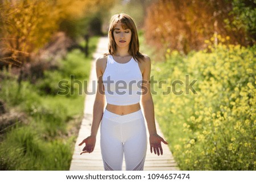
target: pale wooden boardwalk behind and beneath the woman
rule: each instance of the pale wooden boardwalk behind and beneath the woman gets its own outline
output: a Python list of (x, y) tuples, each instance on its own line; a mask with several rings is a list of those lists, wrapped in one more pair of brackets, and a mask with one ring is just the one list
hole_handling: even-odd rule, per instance
[[(96, 53), (94, 53), (94, 61), (92, 61), (92, 69), (90, 73), (90, 81), (88, 84), (88, 91), (92, 92), (93, 89), (96, 90), (96, 86), (93, 86), (93, 82), (97, 81), (96, 71), (95, 71), (95, 60), (97, 57), (101, 56), (102, 53), (107, 52), (108, 50), (108, 37), (101, 37)], [(93, 88), (94, 87), (94, 88)], [(90, 126), (92, 125), (92, 113), (93, 113), (93, 103), (95, 99), (95, 94), (86, 95), (85, 99), (85, 108), (84, 108), (84, 118), (81, 123), (79, 136), (77, 137), (75, 151), (73, 153), (72, 162), (71, 162), (71, 171), (102, 171), (104, 170), (103, 162), (101, 158), (100, 150), (100, 129), (97, 134), (96, 147), (93, 153), (82, 154), (80, 152), (84, 146), (78, 146), (79, 143), (86, 137), (90, 135)], [(142, 108), (143, 109), (143, 108)], [(160, 136), (163, 136), (158, 122), (156, 121), (156, 129)], [(148, 133), (147, 133), (148, 135)], [(170, 170), (179, 170), (174, 161), (174, 158), (171, 154), (167, 145), (162, 144), (163, 146), (163, 155), (158, 156), (154, 153), (150, 153), (149, 141), (148, 141), (148, 150), (146, 155), (146, 161), (144, 164), (145, 171), (170, 171)], [(123, 161), (123, 170), (125, 170), (125, 162)]]

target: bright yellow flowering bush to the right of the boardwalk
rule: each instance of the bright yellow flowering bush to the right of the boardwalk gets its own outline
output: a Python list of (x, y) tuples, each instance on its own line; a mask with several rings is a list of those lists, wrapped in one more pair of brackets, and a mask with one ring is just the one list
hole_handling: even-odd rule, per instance
[(185, 83), (185, 75), (196, 80), (195, 93), (154, 95), (156, 116), (181, 170), (256, 170), (256, 46), (213, 41), (186, 57), (167, 50), (166, 62), (154, 65), (152, 75), (167, 78), (155, 90)]

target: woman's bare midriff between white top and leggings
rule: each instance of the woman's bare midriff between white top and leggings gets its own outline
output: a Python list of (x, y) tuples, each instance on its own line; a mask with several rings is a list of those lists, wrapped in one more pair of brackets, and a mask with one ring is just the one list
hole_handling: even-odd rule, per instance
[(113, 105), (107, 104), (106, 109), (110, 112), (113, 112), (117, 115), (128, 115), (129, 113), (139, 111), (141, 105), (139, 103), (132, 105)]

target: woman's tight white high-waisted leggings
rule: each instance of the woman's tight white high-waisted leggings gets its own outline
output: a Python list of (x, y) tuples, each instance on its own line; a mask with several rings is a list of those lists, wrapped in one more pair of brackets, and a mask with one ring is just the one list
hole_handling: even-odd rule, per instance
[(117, 115), (105, 109), (101, 120), (101, 155), (106, 171), (143, 171), (147, 134), (141, 109)]

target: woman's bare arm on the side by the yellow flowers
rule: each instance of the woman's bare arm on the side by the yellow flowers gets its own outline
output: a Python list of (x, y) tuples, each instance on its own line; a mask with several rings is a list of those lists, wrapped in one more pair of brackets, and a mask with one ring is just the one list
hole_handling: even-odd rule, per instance
[(152, 150), (154, 149), (155, 154), (163, 155), (161, 142), (164, 144), (168, 143), (156, 132), (154, 103), (150, 91), (151, 60), (149, 57), (145, 57), (143, 65), (142, 106), (144, 109), (144, 116), (147, 121), (148, 133), (150, 134), (150, 151), (152, 153)]

